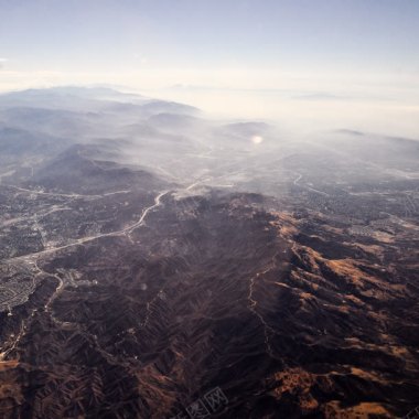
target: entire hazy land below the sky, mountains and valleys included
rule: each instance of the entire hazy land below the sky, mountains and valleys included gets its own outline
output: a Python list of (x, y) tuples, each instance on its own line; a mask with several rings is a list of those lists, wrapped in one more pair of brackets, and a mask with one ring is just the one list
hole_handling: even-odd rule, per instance
[(419, 405), (418, 142), (58, 93), (0, 99), (2, 418)]

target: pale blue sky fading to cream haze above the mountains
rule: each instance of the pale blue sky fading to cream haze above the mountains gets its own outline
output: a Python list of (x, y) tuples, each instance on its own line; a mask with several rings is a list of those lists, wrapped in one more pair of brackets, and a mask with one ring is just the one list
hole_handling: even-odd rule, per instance
[(109, 84), (355, 125), (368, 110), (419, 137), (418, 22), (418, 0), (0, 0), (0, 92)]

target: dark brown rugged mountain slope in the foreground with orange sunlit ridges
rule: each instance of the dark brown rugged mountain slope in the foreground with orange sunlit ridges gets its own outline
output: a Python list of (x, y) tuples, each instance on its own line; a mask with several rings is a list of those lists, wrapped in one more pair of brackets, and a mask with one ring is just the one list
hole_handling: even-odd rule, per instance
[(2, 313), (1, 417), (170, 418), (217, 387), (215, 418), (406, 415), (411, 232), (358, 238), (324, 217), (168, 194), (131, 234), (21, 261), (37, 286)]

